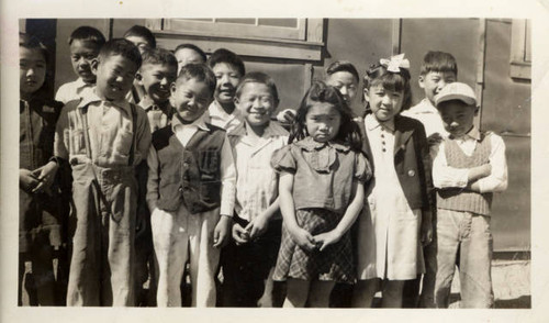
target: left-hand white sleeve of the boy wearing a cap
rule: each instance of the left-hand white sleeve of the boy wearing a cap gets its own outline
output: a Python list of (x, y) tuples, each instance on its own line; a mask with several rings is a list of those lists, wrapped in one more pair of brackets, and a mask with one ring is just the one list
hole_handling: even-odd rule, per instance
[(436, 188), (464, 188), (468, 182), (469, 169), (448, 166), (445, 153), (445, 143), (440, 143), (438, 151), (434, 149), (433, 185)]

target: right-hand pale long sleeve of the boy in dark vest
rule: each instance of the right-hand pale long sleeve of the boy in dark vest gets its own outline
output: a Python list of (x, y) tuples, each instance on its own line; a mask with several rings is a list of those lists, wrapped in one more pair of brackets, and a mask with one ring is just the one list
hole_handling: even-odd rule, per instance
[(221, 207), (222, 215), (233, 216), (236, 197), (236, 167), (228, 137), (221, 148)]

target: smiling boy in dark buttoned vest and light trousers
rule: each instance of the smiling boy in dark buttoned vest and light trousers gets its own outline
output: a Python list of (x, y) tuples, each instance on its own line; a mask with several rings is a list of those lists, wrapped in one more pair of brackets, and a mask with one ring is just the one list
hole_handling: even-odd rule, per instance
[(181, 307), (189, 259), (192, 305), (213, 307), (220, 248), (229, 240), (236, 170), (225, 131), (205, 122), (215, 75), (202, 64), (181, 68), (171, 85), (175, 114), (153, 134), (147, 203), (158, 259), (158, 307)]

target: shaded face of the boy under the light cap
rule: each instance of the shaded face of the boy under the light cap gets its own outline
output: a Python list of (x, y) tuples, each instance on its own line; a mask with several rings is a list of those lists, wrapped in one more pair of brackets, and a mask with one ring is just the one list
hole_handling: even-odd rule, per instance
[(453, 137), (461, 137), (473, 127), (477, 108), (459, 100), (446, 101), (438, 104), (445, 130)]

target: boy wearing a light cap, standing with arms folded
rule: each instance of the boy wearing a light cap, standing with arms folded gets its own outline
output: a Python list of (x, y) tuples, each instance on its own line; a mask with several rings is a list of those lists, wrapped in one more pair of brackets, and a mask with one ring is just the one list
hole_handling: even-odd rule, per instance
[(492, 308), (490, 209), (493, 192), (507, 188), (505, 144), (498, 135), (474, 126), (479, 110), (468, 85), (447, 85), (435, 103), (449, 136), (433, 152), (437, 235), (426, 260), (435, 263), (437, 271), (434, 279), (426, 277), (434, 286), (424, 286), (422, 303), (448, 308), (457, 264), (461, 308)]

